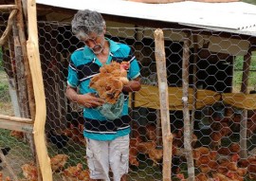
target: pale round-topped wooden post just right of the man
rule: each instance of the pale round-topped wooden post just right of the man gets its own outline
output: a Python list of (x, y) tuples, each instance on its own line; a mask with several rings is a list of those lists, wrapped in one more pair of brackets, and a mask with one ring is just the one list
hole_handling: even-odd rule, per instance
[(164, 37), (161, 29), (155, 33), (155, 61), (160, 99), (161, 126), (163, 138), (163, 181), (171, 181), (173, 135), (170, 128), (168, 84), (166, 76), (166, 59)]

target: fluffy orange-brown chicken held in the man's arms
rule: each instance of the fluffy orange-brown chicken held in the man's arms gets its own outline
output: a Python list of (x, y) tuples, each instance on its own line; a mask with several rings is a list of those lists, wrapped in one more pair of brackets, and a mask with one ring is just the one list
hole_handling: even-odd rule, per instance
[(98, 92), (101, 99), (114, 104), (119, 99), (123, 86), (129, 82), (129, 66), (127, 62), (105, 64), (100, 68), (100, 73), (91, 79), (89, 86)]

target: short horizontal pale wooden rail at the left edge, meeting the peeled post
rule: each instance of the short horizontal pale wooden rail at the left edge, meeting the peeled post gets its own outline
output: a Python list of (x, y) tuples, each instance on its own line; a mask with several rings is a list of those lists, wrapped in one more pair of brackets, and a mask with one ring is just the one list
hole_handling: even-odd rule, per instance
[(14, 122), (0, 118), (0, 128), (7, 130), (15, 130), (25, 132), (27, 134), (33, 133), (33, 124), (27, 122)]

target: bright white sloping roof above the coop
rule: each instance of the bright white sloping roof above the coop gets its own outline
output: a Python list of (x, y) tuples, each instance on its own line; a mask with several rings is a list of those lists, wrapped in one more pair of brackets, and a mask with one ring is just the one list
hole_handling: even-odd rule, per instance
[(256, 36), (256, 6), (243, 2), (145, 4), (126, 0), (37, 0), (37, 3)]

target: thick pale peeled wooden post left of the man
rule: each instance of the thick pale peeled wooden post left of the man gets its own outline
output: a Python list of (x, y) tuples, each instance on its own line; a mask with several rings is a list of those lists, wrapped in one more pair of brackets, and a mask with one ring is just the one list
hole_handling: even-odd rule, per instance
[(42, 69), (39, 56), (37, 14), (35, 0), (27, 0), (27, 22), (28, 22), (28, 40), (27, 55), (32, 76), (33, 90), (35, 96), (36, 115), (34, 123), (34, 141), (36, 153), (40, 163), (44, 181), (52, 181), (52, 171), (50, 159), (46, 148), (46, 96)]

